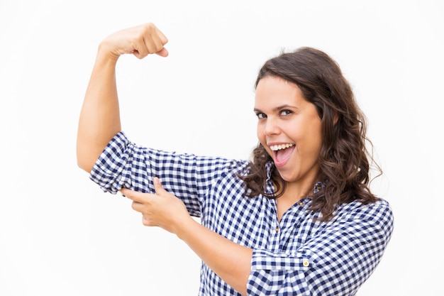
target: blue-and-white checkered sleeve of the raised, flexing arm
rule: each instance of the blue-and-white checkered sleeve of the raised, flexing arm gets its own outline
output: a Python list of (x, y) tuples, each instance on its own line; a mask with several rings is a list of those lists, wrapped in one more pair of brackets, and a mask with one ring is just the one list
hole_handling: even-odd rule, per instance
[(237, 160), (137, 146), (121, 131), (104, 148), (89, 177), (111, 194), (123, 187), (153, 193), (152, 177), (159, 177), (190, 214), (200, 216), (201, 203), (218, 178), (241, 165)]

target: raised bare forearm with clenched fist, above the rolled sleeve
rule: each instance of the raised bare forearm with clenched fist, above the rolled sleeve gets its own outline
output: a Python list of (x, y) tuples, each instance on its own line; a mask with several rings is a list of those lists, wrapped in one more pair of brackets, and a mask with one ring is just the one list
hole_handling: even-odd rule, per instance
[(123, 54), (139, 59), (156, 53), (168, 55), (165, 35), (152, 23), (109, 35), (99, 45), (77, 130), (77, 164), (90, 172), (101, 151), (121, 131), (116, 87), (116, 63)]

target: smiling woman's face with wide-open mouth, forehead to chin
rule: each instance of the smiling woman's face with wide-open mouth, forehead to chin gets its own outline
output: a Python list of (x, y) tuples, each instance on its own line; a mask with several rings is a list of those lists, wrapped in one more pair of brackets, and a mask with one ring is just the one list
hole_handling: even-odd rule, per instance
[(257, 138), (287, 182), (313, 183), (318, 176), (321, 119), (296, 84), (264, 77), (256, 87)]

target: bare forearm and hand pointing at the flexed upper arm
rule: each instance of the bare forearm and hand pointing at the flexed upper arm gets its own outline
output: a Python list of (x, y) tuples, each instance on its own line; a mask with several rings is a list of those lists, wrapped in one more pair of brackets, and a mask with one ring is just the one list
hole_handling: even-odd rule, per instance
[(123, 188), (121, 193), (133, 200), (133, 209), (143, 216), (143, 225), (159, 226), (176, 234), (206, 265), (233, 289), (247, 294), (252, 249), (233, 243), (202, 226), (187, 212), (184, 203), (165, 191), (160, 180), (153, 179), (156, 194)]

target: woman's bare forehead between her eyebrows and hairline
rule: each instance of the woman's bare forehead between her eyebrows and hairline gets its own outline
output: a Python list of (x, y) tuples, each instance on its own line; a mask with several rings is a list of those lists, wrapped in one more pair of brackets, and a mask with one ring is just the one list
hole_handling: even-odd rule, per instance
[(262, 78), (256, 87), (255, 108), (274, 108), (283, 104), (300, 106), (309, 103), (304, 99), (301, 89), (280, 77), (267, 76)]

